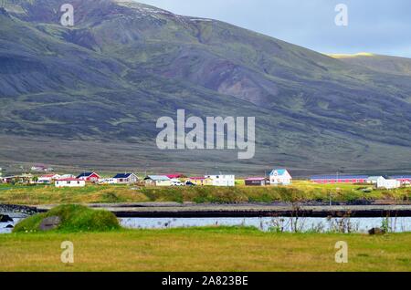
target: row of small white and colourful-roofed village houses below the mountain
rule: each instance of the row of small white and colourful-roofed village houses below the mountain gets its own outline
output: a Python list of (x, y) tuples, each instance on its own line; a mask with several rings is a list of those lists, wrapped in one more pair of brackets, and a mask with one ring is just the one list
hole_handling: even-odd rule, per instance
[[(19, 175), (2, 176), (0, 168), (0, 183), (7, 184), (43, 184), (57, 188), (85, 187), (88, 184), (109, 185), (125, 184), (147, 187), (178, 187), (178, 186), (216, 186), (235, 187), (238, 184), (245, 186), (289, 186), (293, 182), (290, 171), (287, 169), (273, 169), (265, 177), (248, 177), (236, 179), (235, 174), (215, 172), (204, 176), (189, 176), (182, 173), (147, 174), (139, 177), (133, 172), (117, 173), (112, 177), (104, 177), (95, 171), (83, 171), (77, 175), (66, 173), (58, 174), (53, 168), (44, 165), (35, 165), (31, 172)], [(301, 179), (302, 180), (302, 179)], [(368, 176), (368, 175), (315, 175), (310, 182), (315, 184), (367, 184), (375, 189), (394, 190), (411, 186), (411, 175), (395, 176)]]

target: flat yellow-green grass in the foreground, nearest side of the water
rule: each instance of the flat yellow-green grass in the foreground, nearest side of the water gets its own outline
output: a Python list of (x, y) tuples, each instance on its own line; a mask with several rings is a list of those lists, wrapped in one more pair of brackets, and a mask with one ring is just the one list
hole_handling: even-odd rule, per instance
[[(74, 264), (60, 243), (74, 243)], [(349, 263), (334, 245), (349, 245)], [(411, 233), (261, 233), (250, 228), (0, 235), (0, 271), (411, 271)]]

